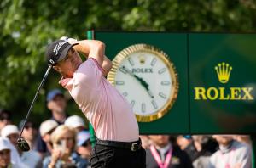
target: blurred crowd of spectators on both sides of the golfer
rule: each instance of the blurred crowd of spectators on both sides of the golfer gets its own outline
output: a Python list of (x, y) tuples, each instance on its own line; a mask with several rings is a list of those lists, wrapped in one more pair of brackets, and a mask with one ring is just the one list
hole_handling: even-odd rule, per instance
[[(1, 167), (90, 167), (90, 132), (79, 115), (68, 116), (67, 101), (61, 90), (47, 94), (48, 120), (37, 127), (25, 124), (22, 137), (31, 148), (17, 148), (17, 138), (24, 125), (12, 121), (12, 113), (0, 111)], [(141, 135), (146, 149), (147, 168), (251, 168), (252, 142), (248, 135)]]

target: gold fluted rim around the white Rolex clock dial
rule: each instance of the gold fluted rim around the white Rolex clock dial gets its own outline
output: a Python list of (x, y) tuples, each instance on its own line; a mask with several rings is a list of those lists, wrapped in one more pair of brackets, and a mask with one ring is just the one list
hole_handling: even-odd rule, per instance
[(148, 52), (148, 53), (154, 53), (157, 57), (159, 57), (167, 66), (171, 78), (172, 78), (172, 89), (171, 89), (171, 96), (168, 98), (166, 104), (161, 107), (157, 112), (155, 112), (152, 115), (136, 115), (137, 121), (139, 122), (151, 122), (154, 120), (158, 120), (172, 108), (173, 104), (175, 103), (177, 99), (177, 93), (179, 88), (179, 82), (177, 77), (177, 71), (172, 63), (171, 59), (168, 58), (168, 55), (164, 53), (160, 48), (155, 48), (152, 45), (148, 44), (134, 44), (127, 48), (124, 48), (122, 51), (120, 51), (115, 58), (113, 59), (113, 67), (108, 73), (108, 81), (115, 86), (115, 75), (117, 70), (119, 69), (119, 64), (128, 57), (131, 53), (135, 52)]

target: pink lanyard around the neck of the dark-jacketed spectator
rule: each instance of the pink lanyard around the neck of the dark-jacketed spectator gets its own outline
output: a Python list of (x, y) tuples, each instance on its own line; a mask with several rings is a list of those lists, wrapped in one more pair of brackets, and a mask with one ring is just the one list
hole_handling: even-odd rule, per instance
[(160, 159), (160, 155), (157, 153), (153, 145), (150, 146), (150, 151), (153, 154), (154, 160), (157, 162), (160, 168), (167, 168), (170, 161), (172, 160), (172, 148), (169, 149), (168, 154), (164, 162)]

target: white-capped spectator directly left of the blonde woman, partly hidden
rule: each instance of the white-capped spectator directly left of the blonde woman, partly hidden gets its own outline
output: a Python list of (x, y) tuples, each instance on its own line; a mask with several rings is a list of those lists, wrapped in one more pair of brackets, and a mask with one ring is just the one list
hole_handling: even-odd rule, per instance
[(44, 143), (46, 144), (47, 151), (45, 154), (41, 154), (41, 157), (44, 158), (46, 155), (50, 155), (52, 151), (52, 143), (50, 141), (51, 133), (55, 131), (55, 128), (58, 126), (58, 123), (55, 120), (45, 120), (41, 123), (39, 132), (43, 138)]

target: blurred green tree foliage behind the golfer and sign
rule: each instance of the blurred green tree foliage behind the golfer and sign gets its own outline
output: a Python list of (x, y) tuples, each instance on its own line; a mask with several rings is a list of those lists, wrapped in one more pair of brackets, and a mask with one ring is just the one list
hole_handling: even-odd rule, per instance
[[(0, 107), (26, 115), (47, 64), (44, 50), (61, 36), (96, 31), (255, 31), (253, 0), (28, 1), (0, 3)], [(32, 117), (49, 116), (45, 94), (59, 87), (54, 72), (38, 96)], [(70, 113), (79, 109), (70, 101)]]

